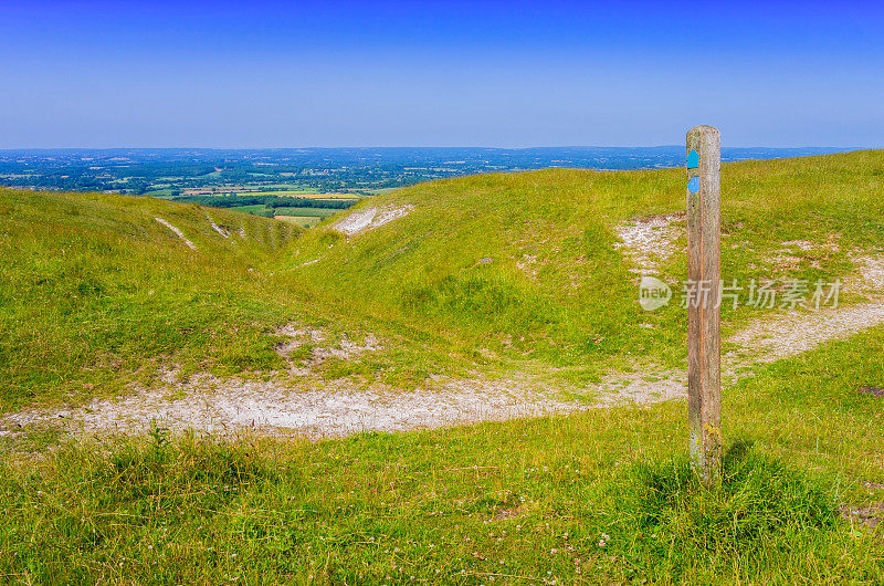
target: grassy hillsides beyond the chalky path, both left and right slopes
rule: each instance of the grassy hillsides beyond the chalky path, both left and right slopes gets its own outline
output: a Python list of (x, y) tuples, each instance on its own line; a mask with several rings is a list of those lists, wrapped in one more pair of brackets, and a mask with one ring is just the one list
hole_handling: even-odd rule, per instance
[[(884, 241), (882, 174), (884, 151), (725, 165), (725, 279), (853, 272), (851, 253)], [(149, 383), (162, 364), (280, 368), (272, 334), (293, 320), (388, 342), (327, 360), (325, 376), (403, 386), (482, 365), (581, 383), (684, 359), (677, 289), (669, 307), (644, 312), (632, 261), (615, 249), (623, 222), (683, 209), (682, 170), (467, 177), (383, 193), (343, 216), (370, 207), (413, 210), (356, 236), (336, 229), (339, 216), (296, 237), (281, 221), (147, 198), (0, 191), (3, 407)], [(676, 286), (683, 222), (660, 268)], [(794, 241), (802, 247), (781, 262), (777, 251)], [(753, 312), (726, 307), (725, 331)]]

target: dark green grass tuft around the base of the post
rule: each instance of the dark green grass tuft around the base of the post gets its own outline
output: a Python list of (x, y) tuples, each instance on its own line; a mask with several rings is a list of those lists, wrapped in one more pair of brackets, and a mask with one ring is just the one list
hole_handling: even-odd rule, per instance
[(612, 543), (640, 574), (665, 580), (686, 579), (697, 566), (754, 566), (813, 550), (840, 524), (831, 482), (743, 441), (728, 450), (713, 490), (678, 456), (634, 464), (617, 491), (620, 510), (608, 513)]

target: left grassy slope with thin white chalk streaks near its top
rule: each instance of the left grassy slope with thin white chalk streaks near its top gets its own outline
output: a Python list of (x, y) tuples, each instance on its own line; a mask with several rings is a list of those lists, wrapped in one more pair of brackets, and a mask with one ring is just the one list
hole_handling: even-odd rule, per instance
[(265, 332), (291, 307), (269, 303), (260, 269), (297, 229), (149, 198), (15, 190), (0, 190), (0, 407), (113, 390), (170, 359), (278, 360)]

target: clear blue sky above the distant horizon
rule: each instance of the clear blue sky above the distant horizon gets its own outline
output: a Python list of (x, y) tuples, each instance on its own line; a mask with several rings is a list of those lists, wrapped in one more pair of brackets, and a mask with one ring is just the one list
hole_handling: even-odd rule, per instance
[(884, 146), (884, 2), (0, 0), (0, 148)]

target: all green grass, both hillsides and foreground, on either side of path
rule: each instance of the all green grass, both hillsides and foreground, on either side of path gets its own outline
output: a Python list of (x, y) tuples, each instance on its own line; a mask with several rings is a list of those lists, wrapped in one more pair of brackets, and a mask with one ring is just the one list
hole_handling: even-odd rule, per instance
[[(849, 274), (851, 250), (881, 251), (882, 177), (884, 151), (726, 165), (725, 278)], [(612, 244), (618, 223), (683, 197), (676, 170), (487, 175), (376, 196), (360, 206), (414, 210), (345, 238), (150, 198), (0, 190), (0, 409), (114, 396), (169, 365), (264, 376), (285, 367), (273, 332), (291, 321), (375, 332), (383, 352), (324, 374), (399, 387), (681, 364), (684, 311), (642, 312)], [(814, 247), (764, 261), (790, 240)], [(685, 272), (683, 254), (663, 266)], [(725, 329), (754, 316), (725, 312)], [(883, 327), (725, 389), (732, 450), (712, 492), (685, 465), (683, 402), (315, 443), (29, 426), (0, 438), (0, 577), (881, 583), (880, 531), (836, 513), (884, 502), (881, 402), (859, 386), (884, 386)]]

